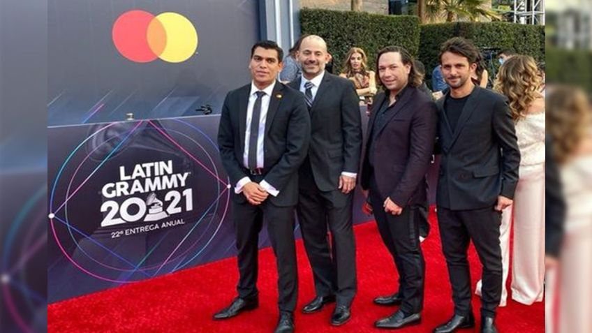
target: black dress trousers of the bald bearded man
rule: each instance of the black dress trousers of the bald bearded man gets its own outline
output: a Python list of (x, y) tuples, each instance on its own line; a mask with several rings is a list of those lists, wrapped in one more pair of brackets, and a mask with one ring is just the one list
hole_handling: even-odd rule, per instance
[[(357, 290), (355, 239), (352, 226), (353, 191), (320, 191), (307, 159), (299, 173), (298, 222), (318, 296), (336, 295), (338, 305), (350, 306)], [(327, 236), (331, 232), (331, 244)]]

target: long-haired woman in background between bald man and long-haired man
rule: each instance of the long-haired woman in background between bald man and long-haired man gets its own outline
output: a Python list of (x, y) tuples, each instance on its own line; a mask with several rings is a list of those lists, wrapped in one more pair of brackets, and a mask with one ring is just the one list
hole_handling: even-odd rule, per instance
[(376, 74), (368, 69), (367, 61), (364, 50), (360, 47), (350, 48), (339, 76), (351, 80), (357, 96), (364, 98), (364, 103), (372, 104), (372, 97), (376, 94)]

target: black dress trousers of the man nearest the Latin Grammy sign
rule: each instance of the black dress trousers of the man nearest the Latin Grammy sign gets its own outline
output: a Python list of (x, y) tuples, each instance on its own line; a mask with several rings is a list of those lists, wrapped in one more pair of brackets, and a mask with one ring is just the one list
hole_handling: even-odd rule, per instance
[(258, 241), (262, 223), (266, 223), (276, 256), (279, 310), (293, 312), (298, 295), (294, 240), (295, 207), (277, 207), (269, 199), (258, 206), (250, 205), (249, 202), (233, 202), (232, 207), (240, 274), (237, 286), (239, 297), (252, 299), (258, 296)]

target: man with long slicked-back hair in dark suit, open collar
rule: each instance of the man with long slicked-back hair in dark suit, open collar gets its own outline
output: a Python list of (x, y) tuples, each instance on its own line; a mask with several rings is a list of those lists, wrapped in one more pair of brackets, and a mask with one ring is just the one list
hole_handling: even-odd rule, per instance
[(419, 232), (436, 138), (436, 105), (419, 89), (421, 75), (404, 48), (383, 48), (376, 64), (385, 92), (374, 98), (368, 122), (362, 188), (369, 190), (380, 237), (399, 272), (399, 293), (374, 302), (401, 307), (374, 325), (397, 329), (420, 323), (423, 309), (425, 262)]

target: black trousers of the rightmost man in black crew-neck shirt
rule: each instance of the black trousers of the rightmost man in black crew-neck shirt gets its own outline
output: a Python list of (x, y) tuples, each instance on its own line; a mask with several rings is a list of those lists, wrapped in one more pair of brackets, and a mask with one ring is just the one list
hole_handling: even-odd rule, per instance
[(438, 225), (452, 284), (454, 313), (467, 316), (472, 311), (467, 250), (469, 241), (473, 240), (483, 267), (481, 315), (495, 317), (502, 283), (501, 212), (496, 212), (494, 207), (473, 210), (438, 207)]

